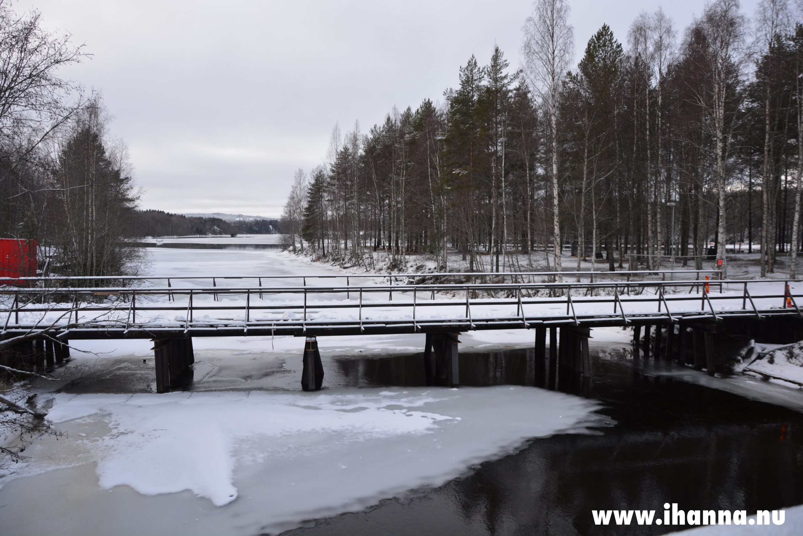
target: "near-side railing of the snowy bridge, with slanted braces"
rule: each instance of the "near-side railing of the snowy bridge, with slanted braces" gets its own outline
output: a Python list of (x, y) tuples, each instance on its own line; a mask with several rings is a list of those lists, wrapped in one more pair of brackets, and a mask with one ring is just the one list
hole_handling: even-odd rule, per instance
[[(25, 330), (201, 335), (417, 333), (422, 330), (629, 325), (801, 315), (801, 280), (630, 281), (615, 283), (396, 284), (205, 288), (0, 288), (0, 335)], [(803, 286), (803, 285), (796, 285)], [(711, 287), (719, 293), (711, 293)], [(728, 288), (723, 292), (723, 287)], [(736, 288), (736, 290), (732, 290)], [(751, 292), (752, 288), (752, 292)], [(475, 297), (494, 290), (502, 298)], [(387, 299), (384, 293), (388, 293)], [(405, 299), (393, 301), (393, 293)], [(602, 296), (594, 294), (601, 293)], [(370, 299), (379, 296), (380, 299)], [(313, 301), (315, 297), (324, 300)], [(796, 299), (797, 298), (797, 299)], [(178, 303), (184, 301), (186, 303)], [(717, 304), (717, 306), (715, 306)], [(504, 310), (511, 306), (511, 309)], [(515, 313), (512, 313), (515, 306)], [(489, 315), (482, 308), (494, 308)], [(371, 313), (388, 309), (380, 316)], [(422, 311), (430, 311), (422, 317)], [(559, 308), (559, 309), (557, 309)], [(629, 310), (626, 310), (629, 309)], [(501, 310), (500, 310), (501, 309)], [(526, 310), (529, 309), (529, 310)], [(565, 312), (564, 312), (565, 309)], [(340, 317), (322, 312), (340, 311)], [(201, 317), (217, 312), (216, 317)], [(259, 318), (259, 313), (285, 313)], [(171, 314), (183, 318), (168, 320)], [(234, 315), (233, 315), (234, 313)], [(387, 314), (390, 313), (390, 314)]]

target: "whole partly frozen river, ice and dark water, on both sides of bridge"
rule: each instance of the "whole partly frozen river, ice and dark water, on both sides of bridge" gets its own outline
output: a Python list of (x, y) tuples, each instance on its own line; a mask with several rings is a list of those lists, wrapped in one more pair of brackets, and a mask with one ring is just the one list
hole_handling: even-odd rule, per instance
[[(149, 253), (154, 276), (340, 273)], [(300, 391), (300, 339), (202, 338), (169, 395), (148, 342), (80, 342), (80, 377), (40, 395), (67, 437), (0, 479), (2, 534), (608, 534), (590, 509), (803, 502), (799, 412), (599, 358), (582, 395), (532, 387), (532, 337), (462, 335), (459, 390), (424, 387), (423, 335), (320, 338), (317, 393)]]

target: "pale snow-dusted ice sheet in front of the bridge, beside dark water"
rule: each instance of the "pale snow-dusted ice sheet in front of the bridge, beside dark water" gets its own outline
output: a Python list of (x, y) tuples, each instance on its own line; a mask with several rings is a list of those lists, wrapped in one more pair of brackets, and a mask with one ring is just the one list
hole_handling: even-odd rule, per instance
[[(102, 488), (189, 489), (244, 516), (245, 533), (442, 485), (529, 438), (584, 432), (599, 407), (507, 386), (54, 396), (49, 418), (60, 428), (74, 419), (104, 424), (94, 437), (59, 441), (70, 456), (78, 450), (96, 461)], [(28, 470), (47, 464), (58, 457), (37, 456)], [(234, 501), (240, 493), (264, 501), (255, 512)]]

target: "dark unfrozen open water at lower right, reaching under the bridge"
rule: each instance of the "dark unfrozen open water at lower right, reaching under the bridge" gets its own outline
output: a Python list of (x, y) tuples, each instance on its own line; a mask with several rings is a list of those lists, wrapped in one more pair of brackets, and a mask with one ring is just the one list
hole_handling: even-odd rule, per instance
[[(462, 354), (460, 368), (463, 385), (536, 381), (531, 350)], [(424, 384), (420, 356), (338, 359), (336, 370), (327, 383)], [(539, 378), (548, 374), (542, 370)], [(594, 526), (591, 510), (662, 514), (668, 501), (681, 509), (752, 513), (803, 503), (801, 413), (599, 358), (585, 386), (566, 390), (601, 401), (601, 412), (617, 424), (599, 435), (535, 440), (425, 495), (387, 499), (285, 536), (665, 534), (683, 527)]]

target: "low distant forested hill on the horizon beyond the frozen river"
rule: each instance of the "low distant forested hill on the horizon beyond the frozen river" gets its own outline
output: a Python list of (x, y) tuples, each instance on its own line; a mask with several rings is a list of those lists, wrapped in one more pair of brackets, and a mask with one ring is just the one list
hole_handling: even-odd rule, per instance
[(137, 211), (134, 237), (184, 235), (271, 235), (279, 232), (275, 219), (227, 222), (221, 218), (202, 218), (165, 211)]

